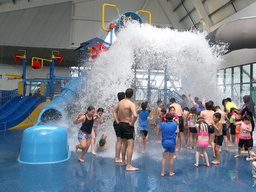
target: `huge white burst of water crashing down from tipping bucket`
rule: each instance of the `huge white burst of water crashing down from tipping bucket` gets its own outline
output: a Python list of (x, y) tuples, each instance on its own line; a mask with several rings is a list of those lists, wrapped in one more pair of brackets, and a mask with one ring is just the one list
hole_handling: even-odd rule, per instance
[[(131, 87), (135, 62), (140, 69), (163, 70), (167, 66), (169, 75), (181, 79), (182, 93), (195, 96), (208, 94), (207, 100), (220, 101), (222, 97), (217, 90), (216, 70), (223, 62), (219, 54), (225, 51), (225, 46), (210, 47), (198, 31), (178, 32), (129, 21), (120, 30), (117, 41), (107, 52), (102, 52), (96, 61), (87, 61), (91, 70), (83, 77), (85, 83), (80, 87), (76, 99), (81, 105), (78, 105), (77, 110), (74, 110), (76, 113), (70, 116), (74, 118), (89, 105), (93, 105), (96, 110), (103, 107), (107, 123), (98, 127), (95, 148), (99, 136), (106, 128), (110, 128), (108, 149), (100, 155), (113, 158), (116, 137), (112, 110), (118, 102), (117, 93)], [(71, 122), (72, 120), (69, 125), (69, 142), (70, 146), (73, 146), (78, 142), (77, 133), (81, 125), (74, 126)], [(150, 150), (152, 149), (148, 149)], [(133, 158), (136, 157), (138, 154), (135, 152)]]

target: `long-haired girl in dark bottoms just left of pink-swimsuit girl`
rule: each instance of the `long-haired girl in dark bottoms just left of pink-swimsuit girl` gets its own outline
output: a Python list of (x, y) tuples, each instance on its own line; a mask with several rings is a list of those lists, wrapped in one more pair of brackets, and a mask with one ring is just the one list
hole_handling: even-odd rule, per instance
[(197, 109), (191, 107), (190, 114), (187, 117), (189, 120), (189, 147), (187, 149), (192, 149), (192, 138), (193, 138), (193, 148), (195, 148), (197, 143), (197, 129), (196, 129), (196, 120), (197, 120)]

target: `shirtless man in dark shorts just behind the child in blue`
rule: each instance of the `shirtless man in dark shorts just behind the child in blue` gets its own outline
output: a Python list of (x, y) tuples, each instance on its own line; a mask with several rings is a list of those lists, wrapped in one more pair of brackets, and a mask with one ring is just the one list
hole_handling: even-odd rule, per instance
[(174, 98), (170, 99), (170, 103), (171, 103), (171, 105), (169, 107), (173, 106), (175, 108), (175, 113), (179, 117), (179, 131), (180, 132), (178, 133), (177, 137), (180, 137), (180, 150), (182, 150), (182, 145), (183, 145), (183, 140), (184, 140), (184, 135), (183, 135), (184, 120), (182, 117), (183, 111), (182, 111), (181, 106), (178, 103), (176, 103), (176, 100)]

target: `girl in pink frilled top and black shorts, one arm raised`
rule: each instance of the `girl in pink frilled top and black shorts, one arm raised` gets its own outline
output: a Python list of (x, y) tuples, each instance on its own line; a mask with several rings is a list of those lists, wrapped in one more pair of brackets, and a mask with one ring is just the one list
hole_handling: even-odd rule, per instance
[[(233, 120), (236, 120), (236, 116), (232, 115)], [(251, 151), (252, 151), (252, 136), (250, 135), (250, 132), (252, 132), (252, 124), (250, 123), (250, 116), (247, 115), (243, 118), (243, 122), (239, 121), (239, 122), (235, 122), (233, 121), (233, 124), (235, 126), (239, 125), (240, 126), (240, 133), (238, 135), (239, 138), (239, 143), (238, 143), (238, 154), (235, 155), (234, 157), (240, 157), (241, 156), (241, 149), (243, 147), (243, 145), (245, 145), (245, 147), (248, 148), (248, 151), (250, 153), (250, 157), (252, 157), (251, 155)]]

